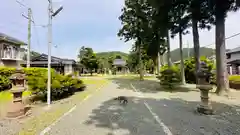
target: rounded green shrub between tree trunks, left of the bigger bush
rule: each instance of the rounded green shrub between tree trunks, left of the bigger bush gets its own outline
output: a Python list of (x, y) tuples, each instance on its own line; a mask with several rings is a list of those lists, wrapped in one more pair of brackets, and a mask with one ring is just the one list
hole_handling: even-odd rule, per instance
[(181, 82), (179, 68), (176, 65), (172, 67), (163, 66), (160, 73), (160, 76), (157, 77), (160, 84), (167, 86), (169, 89), (173, 89), (175, 85)]

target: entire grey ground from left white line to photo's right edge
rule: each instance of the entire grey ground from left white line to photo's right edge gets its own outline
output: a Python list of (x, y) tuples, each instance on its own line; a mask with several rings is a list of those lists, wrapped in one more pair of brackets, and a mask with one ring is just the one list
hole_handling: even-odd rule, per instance
[[(215, 115), (194, 110), (199, 92), (192, 86), (168, 92), (156, 80), (105, 78), (107, 86), (77, 104), (47, 127), (48, 135), (237, 135), (240, 134), (239, 99), (211, 96)], [(128, 104), (113, 100), (127, 96)]]

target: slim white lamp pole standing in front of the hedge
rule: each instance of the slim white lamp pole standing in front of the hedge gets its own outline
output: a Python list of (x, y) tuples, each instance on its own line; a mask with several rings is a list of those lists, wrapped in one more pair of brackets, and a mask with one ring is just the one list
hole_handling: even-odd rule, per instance
[(48, 6), (48, 92), (47, 103), (51, 104), (51, 46), (52, 46), (52, 0)]

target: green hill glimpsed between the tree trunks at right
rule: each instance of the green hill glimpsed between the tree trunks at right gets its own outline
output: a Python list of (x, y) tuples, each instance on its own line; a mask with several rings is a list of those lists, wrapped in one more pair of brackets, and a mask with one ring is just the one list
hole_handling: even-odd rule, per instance
[[(183, 58), (187, 59), (188, 58), (188, 51), (189, 51), (189, 56), (193, 57), (194, 55), (194, 50), (193, 48), (183, 48)], [(206, 47), (201, 47), (200, 48), (200, 56), (212, 56), (214, 54), (214, 49), (212, 48), (206, 48)], [(176, 62), (180, 60), (180, 49), (175, 49), (171, 51), (171, 58), (172, 62)]]

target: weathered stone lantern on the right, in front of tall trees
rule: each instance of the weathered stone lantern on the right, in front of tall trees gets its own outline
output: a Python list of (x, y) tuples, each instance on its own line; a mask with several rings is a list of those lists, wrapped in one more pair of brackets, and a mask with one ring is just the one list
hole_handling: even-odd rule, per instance
[(212, 89), (212, 85), (209, 82), (209, 78), (212, 76), (212, 73), (208, 70), (207, 64), (202, 62), (200, 64), (200, 69), (197, 73), (198, 76), (198, 85), (197, 88), (201, 92), (201, 104), (197, 107), (197, 112), (211, 115), (213, 114), (212, 106), (209, 102), (209, 90)]

